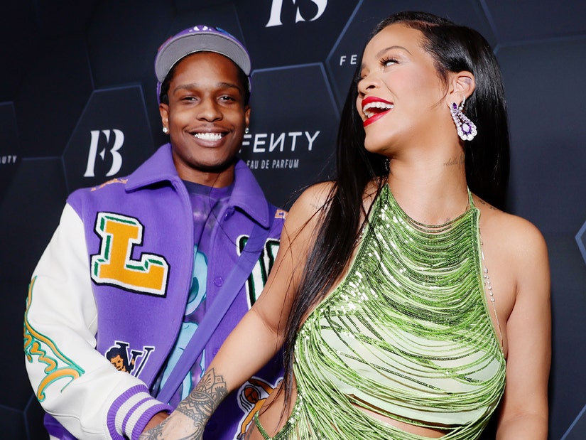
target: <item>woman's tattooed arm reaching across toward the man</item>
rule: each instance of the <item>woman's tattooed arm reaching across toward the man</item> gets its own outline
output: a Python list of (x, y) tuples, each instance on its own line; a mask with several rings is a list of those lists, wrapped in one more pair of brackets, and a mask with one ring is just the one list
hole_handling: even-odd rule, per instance
[(281, 348), (293, 296), (329, 188), (329, 184), (313, 186), (291, 207), (275, 264), (258, 301), (224, 341), (197, 387), (162, 424), (145, 431), (141, 440), (201, 439), (207, 421), (229, 392)]

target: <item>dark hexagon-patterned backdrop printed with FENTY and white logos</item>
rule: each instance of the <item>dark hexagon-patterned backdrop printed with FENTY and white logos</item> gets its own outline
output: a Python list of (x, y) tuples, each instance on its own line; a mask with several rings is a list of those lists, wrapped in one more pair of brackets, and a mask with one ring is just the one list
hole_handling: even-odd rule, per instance
[[(509, 211), (545, 235), (552, 268), (550, 439), (586, 439), (586, 6), (582, 0), (5, 1), (0, 26), (0, 386), (3, 438), (46, 439), (24, 369), (29, 277), (67, 193), (130, 173), (166, 141), (153, 58), (183, 28), (219, 26), (253, 63), (242, 149), (269, 200), (332, 171), (342, 100), (384, 16), (472, 26), (501, 63)], [(292, 196), (293, 195), (293, 196)]]

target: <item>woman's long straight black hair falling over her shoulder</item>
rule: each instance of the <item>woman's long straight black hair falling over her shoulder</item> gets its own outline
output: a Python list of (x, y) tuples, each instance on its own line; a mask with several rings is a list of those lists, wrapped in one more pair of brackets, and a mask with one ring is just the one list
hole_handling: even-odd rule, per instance
[[(478, 135), (464, 144), (467, 184), (480, 198), (502, 208), (509, 176), (509, 131), (501, 72), (492, 49), (477, 31), (423, 12), (389, 16), (374, 28), (368, 41), (394, 23), (423, 33), (423, 48), (433, 56), (438, 75), (446, 84), (450, 72), (467, 70), (474, 74), (476, 88), (466, 101), (465, 114), (477, 125)], [(364, 148), (364, 127), (356, 108), (359, 69), (342, 109), (336, 143), (337, 178), (320, 212), (321, 226), (288, 319), (284, 351), (286, 396), (291, 395), (298, 328), (347, 267), (368, 217), (363, 208), (367, 184), (376, 182), (380, 192), (386, 182), (386, 159)]]

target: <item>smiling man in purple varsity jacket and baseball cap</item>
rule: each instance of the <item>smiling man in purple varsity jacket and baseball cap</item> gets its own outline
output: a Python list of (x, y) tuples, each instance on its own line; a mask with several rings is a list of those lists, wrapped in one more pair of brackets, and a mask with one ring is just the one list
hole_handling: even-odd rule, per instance
[[(29, 287), (26, 365), (52, 439), (138, 439), (165, 419), (260, 294), (278, 248), (283, 211), (236, 157), (250, 114), (244, 46), (195, 26), (163, 43), (155, 70), (169, 144), (70, 195)], [(256, 389), (280, 370), (261, 371)], [(243, 431), (248, 389), (207, 438)]]

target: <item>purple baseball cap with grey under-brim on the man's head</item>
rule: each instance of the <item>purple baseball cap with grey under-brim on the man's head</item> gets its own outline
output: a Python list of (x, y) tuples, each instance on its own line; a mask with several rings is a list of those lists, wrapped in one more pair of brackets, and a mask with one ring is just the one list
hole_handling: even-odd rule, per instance
[(202, 51), (219, 53), (234, 61), (249, 77), (250, 90), (250, 57), (244, 45), (221, 28), (197, 25), (170, 37), (158, 49), (155, 58), (157, 99), (161, 94), (161, 83), (173, 65), (187, 55)]

